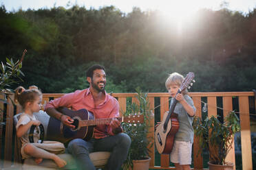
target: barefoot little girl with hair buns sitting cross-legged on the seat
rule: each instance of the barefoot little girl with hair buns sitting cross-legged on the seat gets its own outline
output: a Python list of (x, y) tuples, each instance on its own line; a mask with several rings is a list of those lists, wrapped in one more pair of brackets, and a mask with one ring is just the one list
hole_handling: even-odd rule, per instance
[[(58, 167), (64, 167), (67, 163), (65, 160), (59, 158), (56, 154), (63, 153), (65, 147), (62, 143), (54, 141), (39, 141), (39, 130), (34, 132), (34, 142), (29, 141), (29, 131), (32, 125), (40, 125), (41, 122), (36, 120), (33, 112), (39, 112), (41, 108), (42, 93), (33, 88), (25, 90), (22, 86), (15, 89), (14, 101), (18, 101), (23, 108), (23, 113), (17, 123), (17, 136), (21, 137), (21, 155), (23, 158), (34, 157), (36, 163), (40, 163), (43, 158), (52, 159)], [(36, 127), (38, 128), (38, 127)]]

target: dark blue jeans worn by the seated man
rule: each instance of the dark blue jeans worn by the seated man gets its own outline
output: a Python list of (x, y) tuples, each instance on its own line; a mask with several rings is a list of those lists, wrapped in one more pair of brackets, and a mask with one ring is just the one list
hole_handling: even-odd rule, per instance
[(86, 170), (96, 169), (89, 158), (89, 153), (111, 151), (105, 169), (119, 170), (127, 158), (130, 145), (131, 138), (125, 133), (120, 133), (100, 139), (91, 138), (89, 141), (84, 141), (81, 138), (73, 139), (68, 144), (67, 151), (76, 159), (78, 169)]

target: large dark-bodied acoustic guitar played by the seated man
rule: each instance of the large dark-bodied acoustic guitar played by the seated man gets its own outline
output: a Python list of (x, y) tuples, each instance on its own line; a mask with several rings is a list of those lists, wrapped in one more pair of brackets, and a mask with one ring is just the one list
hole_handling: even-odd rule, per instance
[[(50, 117), (47, 127), (47, 140), (49, 141), (60, 141), (66, 143), (74, 138), (83, 138), (88, 141), (92, 138), (94, 133), (94, 126), (96, 125), (107, 125), (113, 118), (105, 119), (94, 119), (94, 114), (86, 109), (81, 110), (70, 110), (68, 108), (58, 108), (59, 112), (70, 116), (74, 119), (75, 127), (71, 129), (66, 125), (63, 125), (60, 120)], [(132, 115), (129, 117), (116, 117), (120, 122), (126, 123), (143, 123), (143, 115)]]

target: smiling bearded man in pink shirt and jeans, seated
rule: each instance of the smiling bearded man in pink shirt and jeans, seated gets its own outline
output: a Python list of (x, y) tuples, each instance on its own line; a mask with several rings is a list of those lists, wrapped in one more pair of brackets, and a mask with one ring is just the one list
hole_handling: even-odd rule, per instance
[[(58, 99), (50, 101), (45, 106), (45, 111), (51, 117), (61, 120), (63, 124), (74, 128), (73, 119), (58, 112), (55, 108), (67, 107), (72, 110), (85, 108), (94, 113), (95, 119), (114, 118), (119, 116), (118, 101), (105, 91), (106, 73), (100, 65), (91, 66), (86, 73), (89, 88), (76, 90)], [(67, 151), (76, 158), (79, 169), (96, 169), (89, 158), (92, 151), (111, 151), (111, 156), (105, 169), (120, 169), (125, 161), (131, 138), (122, 133), (122, 127), (118, 119), (113, 119), (109, 125), (97, 125), (94, 127), (94, 136), (89, 141), (76, 138), (70, 141)]]

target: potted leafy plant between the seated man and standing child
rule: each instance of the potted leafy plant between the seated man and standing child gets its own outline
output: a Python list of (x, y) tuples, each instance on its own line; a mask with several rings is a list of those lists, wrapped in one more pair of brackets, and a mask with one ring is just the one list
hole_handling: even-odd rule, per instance
[[(138, 96), (138, 104), (131, 103), (127, 104), (127, 111), (123, 113), (125, 116), (142, 114), (144, 116), (143, 123), (131, 124), (123, 123), (122, 127), (131, 137), (131, 147), (125, 161), (124, 169), (138, 169), (144, 170), (149, 169), (149, 148), (153, 145), (149, 141), (147, 134), (149, 133), (149, 121), (152, 117), (151, 110), (149, 110), (149, 101), (147, 99), (147, 93), (141, 93), (140, 88), (136, 88)], [(140, 165), (142, 167), (140, 167)]]

